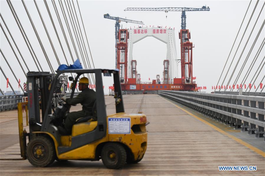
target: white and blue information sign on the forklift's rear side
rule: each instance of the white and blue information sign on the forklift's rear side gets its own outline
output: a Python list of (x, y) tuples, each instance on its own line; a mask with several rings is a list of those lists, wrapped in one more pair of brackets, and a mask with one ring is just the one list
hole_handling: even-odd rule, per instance
[(108, 118), (108, 134), (131, 134), (131, 118)]

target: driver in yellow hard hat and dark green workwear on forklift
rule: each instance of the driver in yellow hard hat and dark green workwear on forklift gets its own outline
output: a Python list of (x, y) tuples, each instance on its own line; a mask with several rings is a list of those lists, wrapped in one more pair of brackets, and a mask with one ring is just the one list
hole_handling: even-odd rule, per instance
[[(83, 105), (82, 110), (68, 113), (65, 119), (65, 130), (62, 133), (71, 134), (72, 127), (78, 118), (83, 118), (87, 116), (92, 116), (92, 107), (96, 101), (96, 92), (88, 88), (89, 81), (88, 78), (83, 77), (79, 81), (78, 89), (82, 92), (79, 93), (75, 98), (66, 98), (65, 96), (61, 99), (65, 101), (68, 105), (76, 105), (80, 103)], [(62, 129), (60, 129), (61, 131)]]

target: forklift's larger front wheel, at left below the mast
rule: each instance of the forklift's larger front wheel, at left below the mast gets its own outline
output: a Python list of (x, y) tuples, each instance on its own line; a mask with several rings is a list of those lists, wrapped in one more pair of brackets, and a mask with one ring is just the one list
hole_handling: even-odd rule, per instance
[(55, 160), (55, 148), (50, 139), (37, 136), (29, 141), (26, 155), (33, 166), (46, 167)]

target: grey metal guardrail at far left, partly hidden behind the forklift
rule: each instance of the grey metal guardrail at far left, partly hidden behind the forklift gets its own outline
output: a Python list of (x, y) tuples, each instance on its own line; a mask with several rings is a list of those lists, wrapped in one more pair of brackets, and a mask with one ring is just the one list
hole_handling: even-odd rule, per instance
[[(75, 92), (74, 97), (76, 97), (80, 92)], [(66, 93), (69, 98), (71, 93)], [(17, 103), (23, 102), (24, 94), (20, 95), (0, 95), (0, 112), (6, 110), (17, 109)]]

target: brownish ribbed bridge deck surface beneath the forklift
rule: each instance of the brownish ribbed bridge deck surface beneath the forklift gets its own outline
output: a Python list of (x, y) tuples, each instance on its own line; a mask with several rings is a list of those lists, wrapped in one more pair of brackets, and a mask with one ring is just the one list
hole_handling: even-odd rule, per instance
[[(115, 112), (113, 97), (106, 97), (106, 105), (108, 114)], [(219, 127), (194, 116), (198, 114), (154, 94), (124, 95), (124, 105), (127, 113), (143, 112), (150, 122), (147, 151), (139, 164), (108, 170), (101, 161), (54, 162), (49, 168), (35, 168), (27, 160), (0, 161), (0, 175), (264, 175), (262, 152), (220, 133)], [(7, 154), (19, 153), (17, 111), (0, 115), (0, 158), (19, 157)], [(257, 171), (219, 171), (222, 165), (257, 166)]]

